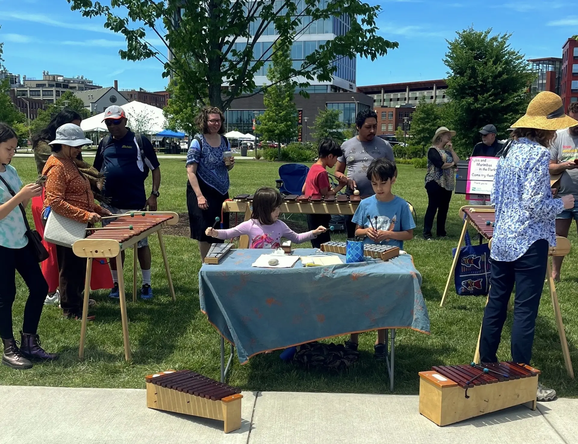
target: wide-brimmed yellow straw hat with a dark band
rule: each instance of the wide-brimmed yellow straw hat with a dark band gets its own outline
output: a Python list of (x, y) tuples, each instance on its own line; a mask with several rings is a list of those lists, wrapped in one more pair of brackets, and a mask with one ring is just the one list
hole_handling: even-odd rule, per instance
[(578, 125), (578, 121), (564, 114), (564, 104), (558, 94), (542, 91), (528, 105), (524, 116), (512, 128), (564, 129)]

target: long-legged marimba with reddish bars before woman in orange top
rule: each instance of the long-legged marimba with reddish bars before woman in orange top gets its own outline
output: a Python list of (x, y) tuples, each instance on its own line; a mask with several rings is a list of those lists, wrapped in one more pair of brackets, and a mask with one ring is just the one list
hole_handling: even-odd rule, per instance
[[(175, 301), (175, 289), (169, 269), (169, 261), (166, 257), (165, 242), (162, 239), (161, 230), (167, 225), (175, 225), (179, 222), (179, 215), (172, 212), (131, 212), (118, 216), (104, 228), (91, 231), (91, 234), (84, 239), (77, 240), (72, 245), (72, 250), (79, 257), (86, 257), (89, 260), (86, 265), (86, 281), (84, 283), (84, 303), (82, 309), (82, 325), (80, 329), (79, 357), (84, 357), (84, 341), (86, 339), (86, 322), (88, 316), (88, 296), (90, 294), (90, 277), (92, 271), (91, 258), (116, 258), (116, 268), (118, 271), (118, 291), (120, 293), (120, 314), (123, 323), (124, 357), (131, 358), (130, 343), (128, 339), (128, 319), (127, 306), (124, 290), (123, 261), (121, 251), (130, 247), (136, 247), (140, 239), (144, 239), (151, 234), (157, 233), (158, 243), (161, 247), (162, 260), (165, 264), (166, 279), (169, 283), (171, 297)], [(134, 251), (134, 267), (132, 282), (132, 299), (136, 301), (136, 272), (137, 254)]]

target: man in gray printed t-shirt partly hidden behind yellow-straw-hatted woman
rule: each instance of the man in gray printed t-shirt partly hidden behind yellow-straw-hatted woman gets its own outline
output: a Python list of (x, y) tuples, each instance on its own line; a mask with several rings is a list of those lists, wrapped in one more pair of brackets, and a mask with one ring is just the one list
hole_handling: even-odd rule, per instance
[[(568, 115), (578, 120), (578, 103), (570, 103)], [(550, 175), (561, 175), (557, 197), (573, 194), (576, 200), (574, 208), (562, 210), (556, 216), (556, 235), (564, 238), (568, 237), (572, 219), (576, 220), (578, 227), (578, 126), (556, 131), (556, 138), (550, 146)], [(560, 268), (562, 267), (562, 256), (554, 256), (552, 275), (555, 280), (560, 279)]]

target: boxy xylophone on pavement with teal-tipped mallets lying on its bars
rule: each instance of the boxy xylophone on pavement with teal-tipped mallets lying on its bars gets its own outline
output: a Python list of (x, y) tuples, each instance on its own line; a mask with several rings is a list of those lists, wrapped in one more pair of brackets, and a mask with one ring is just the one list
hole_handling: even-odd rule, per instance
[(525, 364), (442, 365), (420, 372), (420, 413), (438, 426), (525, 404), (536, 409), (540, 371)]

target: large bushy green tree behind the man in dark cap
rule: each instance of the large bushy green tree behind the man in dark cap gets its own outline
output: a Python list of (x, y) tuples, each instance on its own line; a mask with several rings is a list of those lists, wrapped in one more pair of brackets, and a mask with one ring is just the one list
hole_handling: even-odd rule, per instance
[(506, 136), (528, 105), (527, 88), (535, 75), (524, 55), (510, 47), (512, 34), (490, 36), (491, 32), (470, 27), (447, 42), (446, 94), (451, 102), (446, 105), (446, 126), (457, 133), (454, 149), (460, 156), (471, 153), (484, 125), (494, 124), (498, 136)]

